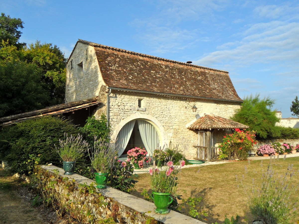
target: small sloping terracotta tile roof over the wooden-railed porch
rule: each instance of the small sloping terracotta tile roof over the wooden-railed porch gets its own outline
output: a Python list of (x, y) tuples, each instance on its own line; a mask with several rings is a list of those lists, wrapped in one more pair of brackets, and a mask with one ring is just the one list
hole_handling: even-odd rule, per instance
[(204, 114), (204, 116), (196, 120), (196, 122), (194, 122), (192, 125), (188, 127), (188, 129), (235, 129), (235, 128), (245, 129), (245, 128), (249, 128), (249, 126), (213, 114), (211, 115)]

